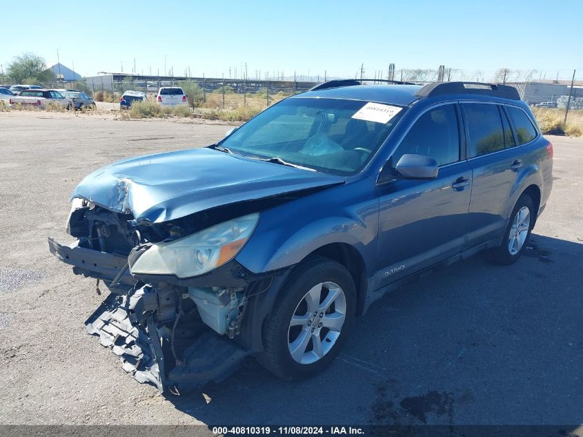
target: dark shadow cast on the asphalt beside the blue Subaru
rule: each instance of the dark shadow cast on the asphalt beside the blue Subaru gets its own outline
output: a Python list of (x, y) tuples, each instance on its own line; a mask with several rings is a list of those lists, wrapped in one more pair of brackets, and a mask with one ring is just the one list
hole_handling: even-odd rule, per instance
[(583, 244), (533, 235), (394, 291), (324, 373), (285, 382), (249, 360), (176, 409), (211, 425), (583, 423)]

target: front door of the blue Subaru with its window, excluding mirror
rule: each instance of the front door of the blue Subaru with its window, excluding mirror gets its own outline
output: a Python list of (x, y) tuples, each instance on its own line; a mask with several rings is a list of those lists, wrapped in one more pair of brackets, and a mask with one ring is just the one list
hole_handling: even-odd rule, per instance
[(377, 186), (377, 287), (457, 255), (464, 245), (472, 171), (464, 157), (457, 104), (429, 108), (413, 123), (387, 165), (406, 153), (433, 157), (436, 179), (404, 179)]

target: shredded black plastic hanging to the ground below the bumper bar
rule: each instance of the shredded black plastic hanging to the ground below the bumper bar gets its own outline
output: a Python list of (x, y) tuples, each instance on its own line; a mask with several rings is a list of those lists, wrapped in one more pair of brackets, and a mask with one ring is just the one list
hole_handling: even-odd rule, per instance
[[(147, 293), (152, 291), (112, 293), (85, 322), (87, 332), (99, 336), (101, 345), (119, 356), (121, 368), (138, 382), (149, 382), (160, 392), (197, 389), (210, 381), (221, 382), (248, 356), (235, 343), (204, 330), (176, 360), (170, 351), (172, 332), (143, 304), (151, 300)], [(140, 316), (145, 316), (144, 327)]]

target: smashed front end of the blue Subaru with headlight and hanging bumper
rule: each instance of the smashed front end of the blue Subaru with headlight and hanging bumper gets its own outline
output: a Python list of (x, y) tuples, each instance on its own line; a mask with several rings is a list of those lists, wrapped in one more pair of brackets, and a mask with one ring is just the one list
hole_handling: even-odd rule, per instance
[(253, 352), (249, 333), (260, 331), (246, 320), (250, 302), (282, 273), (254, 274), (234, 259), (257, 213), (218, 217), (228, 214), (138, 225), (131, 214), (75, 199), (68, 232), (77, 242), (48, 240), (74, 273), (111, 291), (86, 321), (88, 333), (159, 391), (195, 389), (235, 371)]

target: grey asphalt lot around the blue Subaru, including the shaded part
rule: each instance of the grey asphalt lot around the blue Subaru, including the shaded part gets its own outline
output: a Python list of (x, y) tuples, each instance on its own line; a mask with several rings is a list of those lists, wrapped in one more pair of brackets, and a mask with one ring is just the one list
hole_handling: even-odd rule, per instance
[(103, 296), (46, 238), (68, 196), (124, 157), (204, 146), (228, 126), (0, 113), (1, 424), (581, 424), (583, 139), (549, 137), (551, 200), (512, 266), (483, 256), (387, 295), (333, 365), (284, 382), (249, 360), (219, 385), (161, 396), (83, 322)]

